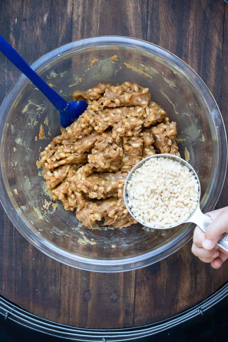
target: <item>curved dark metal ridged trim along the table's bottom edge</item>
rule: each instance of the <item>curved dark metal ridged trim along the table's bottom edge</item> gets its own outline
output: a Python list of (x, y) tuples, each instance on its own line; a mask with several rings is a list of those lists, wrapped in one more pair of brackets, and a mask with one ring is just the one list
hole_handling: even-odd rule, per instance
[(228, 282), (210, 297), (169, 319), (125, 329), (84, 329), (71, 327), (33, 315), (0, 296), (0, 314), (24, 327), (52, 336), (80, 342), (123, 342), (150, 336), (198, 316), (228, 295)]

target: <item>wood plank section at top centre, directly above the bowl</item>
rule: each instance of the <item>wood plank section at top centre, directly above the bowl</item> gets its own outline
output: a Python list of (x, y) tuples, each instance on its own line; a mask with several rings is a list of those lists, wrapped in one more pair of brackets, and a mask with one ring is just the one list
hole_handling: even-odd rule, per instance
[(74, 1), (72, 40), (120, 35), (146, 39), (147, 1)]

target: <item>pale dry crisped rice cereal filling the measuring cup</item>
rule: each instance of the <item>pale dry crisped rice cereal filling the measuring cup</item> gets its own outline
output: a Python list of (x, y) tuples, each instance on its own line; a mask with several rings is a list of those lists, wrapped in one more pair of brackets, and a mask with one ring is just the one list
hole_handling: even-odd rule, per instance
[(169, 158), (151, 158), (127, 185), (128, 204), (137, 220), (153, 227), (186, 221), (196, 209), (198, 181), (186, 166)]

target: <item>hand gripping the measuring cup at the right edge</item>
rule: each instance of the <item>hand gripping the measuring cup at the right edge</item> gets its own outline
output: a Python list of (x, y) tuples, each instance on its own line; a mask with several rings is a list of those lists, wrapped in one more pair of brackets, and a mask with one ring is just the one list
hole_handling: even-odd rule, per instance
[(228, 259), (228, 252), (216, 246), (224, 233), (228, 233), (228, 207), (207, 213), (213, 220), (206, 232), (197, 226), (193, 234), (192, 253), (201, 261), (219, 268)]

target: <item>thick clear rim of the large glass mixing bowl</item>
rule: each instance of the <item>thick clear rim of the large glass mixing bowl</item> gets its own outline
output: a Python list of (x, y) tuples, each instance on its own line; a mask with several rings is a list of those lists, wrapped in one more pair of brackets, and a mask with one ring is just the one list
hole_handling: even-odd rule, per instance
[[(213, 205), (212, 209), (214, 209), (218, 198), (222, 192), (223, 185), (225, 182), (226, 176), (226, 169), (227, 169), (227, 136), (224, 121), (218, 105), (206, 86), (203, 80), (199, 77), (199, 75), (184, 61), (182, 61), (179, 57), (174, 55), (173, 53), (159, 47), (156, 44), (125, 36), (99, 36), (99, 37), (92, 37), (92, 38), (85, 38), (80, 39), (77, 41), (73, 41), (58, 47), (40, 58), (36, 60), (32, 65), (32, 69), (36, 72), (40, 72), (43, 70), (47, 65), (53, 63), (63, 54), (66, 55), (67, 53), (78, 51), (80, 49), (88, 49), (93, 47), (101, 47), (103, 45), (110, 45), (110, 46), (120, 46), (120, 47), (128, 47), (128, 48), (138, 48), (144, 52), (154, 54), (167, 63), (172, 65), (175, 68), (178, 68), (182, 71), (186, 78), (195, 86), (197, 91), (201, 94), (204, 102), (206, 102), (207, 107), (210, 109), (212, 114), (212, 119), (214, 121), (216, 132), (219, 133), (221, 141), (218, 141), (220, 149), (218, 152), (221, 153), (223, 149), (223, 154), (225, 158), (220, 158), (219, 160), (219, 167), (220, 171), (217, 173), (219, 178), (219, 189), (216, 189), (216, 194), (214, 194)], [(23, 88), (27, 86), (30, 81), (27, 79), (25, 75), (21, 75), (14, 85), (11, 87), (8, 94), (5, 96), (1, 107), (0, 113), (2, 119), (0, 121), (0, 142), (2, 145), (2, 137), (4, 131), (4, 123), (5, 119), (8, 116), (8, 111), (12, 107), (14, 101), (16, 101), (19, 91), (22, 92)], [(18, 91), (19, 90), (19, 91)], [(206, 98), (206, 100), (205, 100)], [(3, 113), (3, 114), (2, 114)], [(223, 156), (223, 157), (224, 157)], [(219, 159), (219, 158), (218, 158)], [(2, 153), (0, 159), (0, 202), (8, 215), (11, 222), (14, 226), (18, 229), (18, 231), (36, 248), (42, 251), (44, 254), (48, 255), (49, 257), (67, 264), (69, 266), (77, 267), (80, 269), (84, 269), (86, 271), (95, 271), (95, 272), (123, 272), (123, 271), (131, 271), (133, 269), (145, 267), (160, 261), (169, 255), (176, 252), (179, 248), (183, 247), (191, 238), (192, 238), (192, 228), (186, 226), (186, 230), (180, 234), (178, 237), (173, 239), (172, 241), (168, 242), (165, 246), (165, 251), (162, 250), (161, 255), (161, 247), (155, 251), (150, 251), (141, 255), (137, 255), (136, 257), (131, 258), (124, 258), (124, 259), (115, 259), (115, 260), (99, 260), (93, 258), (86, 258), (81, 257), (77, 254), (73, 254), (63, 250), (60, 247), (57, 247), (52, 242), (47, 240), (46, 238), (42, 238), (40, 234), (35, 234), (26, 224), (25, 222), (19, 217), (16, 210), (12, 206), (12, 202), (6, 190), (3, 175), (1, 171), (1, 160), (2, 160)], [(215, 170), (215, 172), (217, 172)], [(217, 187), (218, 188), (218, 187)], [(152, 255), (153, 254), (153, 255)]]

